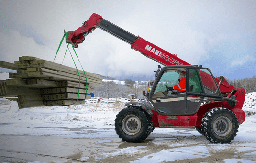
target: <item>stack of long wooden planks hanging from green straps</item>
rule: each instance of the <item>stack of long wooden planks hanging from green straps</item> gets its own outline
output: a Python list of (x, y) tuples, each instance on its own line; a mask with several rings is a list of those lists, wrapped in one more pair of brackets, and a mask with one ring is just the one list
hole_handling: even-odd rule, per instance
[(77, 70), (36, 57), (0, 61), (0, 67), (17, 70), (2, 81), (2, 96), (17, 96), (19, 108), (84, 104), (93, 87), (102, 86), (99, 75)]

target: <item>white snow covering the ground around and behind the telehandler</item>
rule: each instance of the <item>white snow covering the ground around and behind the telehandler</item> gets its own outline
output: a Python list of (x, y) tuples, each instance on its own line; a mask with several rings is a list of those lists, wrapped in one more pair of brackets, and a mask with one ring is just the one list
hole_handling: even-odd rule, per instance
[[(113, 138), (122, 142), (114, 130), (116, 114), (126, 100), (100, 100), (85, 105), (33, 107), (19, 109), (15, 101), (0, 98), (0, 135), (54, 136), (102, 139)], [(212, 152), (231, 150), (237, 156), (222, 156), (224, 163), (256, 162), (256, 92), (246, 95), (243, 110), (245, 122), (240, 125), (237, 136), (230, 144), (211, 144), (194, 129), (156, 128), (147, 139), (147, 144), (156, 147), (134, 145), (116, 148), (112, 152), (92, 154), (78, 159), (90, 162), (117, 156), (134, 156), (131, 163), (159, 163), (184, 159), (210, 157)], [(145, 143), (146, 144), (146, 143)], [(165, 146), (165, 148), (160, 148)], [(95, 161), (96, 160), (96, 161)], [(184, 161), (185, 162), (185, 161)], [(213, 161), (214, 162), (214, 161)], [(217, 162), (217, 161), (216, 161)]]

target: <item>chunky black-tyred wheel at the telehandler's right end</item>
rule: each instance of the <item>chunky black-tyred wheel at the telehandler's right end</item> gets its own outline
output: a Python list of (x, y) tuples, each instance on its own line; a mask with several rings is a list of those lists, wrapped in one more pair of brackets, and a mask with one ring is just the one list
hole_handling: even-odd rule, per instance
[(229, 143), (238, 132), (238, 121), (234, 112), (226, 108), (213, 108), (205, 113), (201, 129), (211, 143)]

